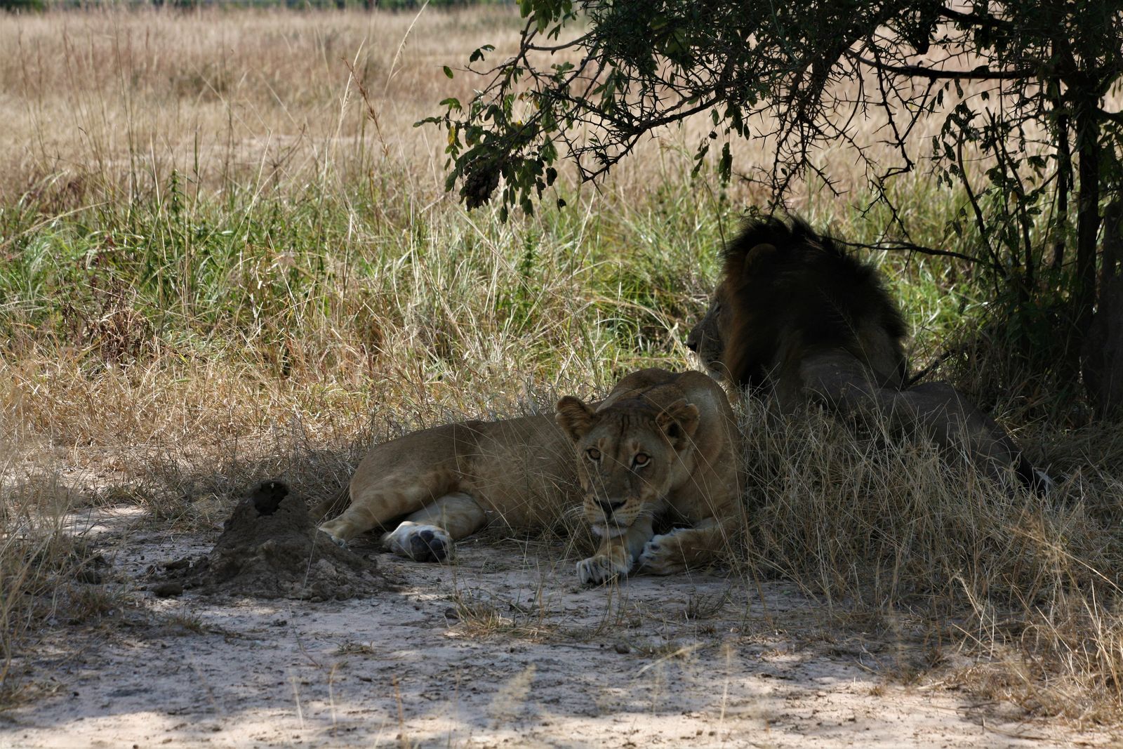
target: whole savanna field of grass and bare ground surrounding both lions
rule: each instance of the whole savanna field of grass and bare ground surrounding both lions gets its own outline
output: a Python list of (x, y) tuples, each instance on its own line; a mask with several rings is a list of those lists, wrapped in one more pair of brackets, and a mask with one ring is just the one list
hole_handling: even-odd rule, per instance
[[(374, 441), (696, 366), (722, 243), (768, 201), (692, 175), (704, 122), (599, 185), (563, 173), (533, 216), (446, 193), (446, 134), (414, 124), (521, 22), (0, 19), (0, 746), (1115, 746), (1123, 432), (1019, 368), (956, 258), (862, 255), (913, 368), (943, 355), (933, 376), (1049, 467), (1048, 496), (747, 399), (743, 533), (710, 572), (578, 586), (574, 513), (451, 565), (371, 535), (394, 585), (350, 601), (153, 592), (262, 481), (317, 502)], [(819, 157), (840, 194), (788, 209), (884, 238), (851, 155)], [(970, 240), (923, 168), (893, 189), (914, 239)]]

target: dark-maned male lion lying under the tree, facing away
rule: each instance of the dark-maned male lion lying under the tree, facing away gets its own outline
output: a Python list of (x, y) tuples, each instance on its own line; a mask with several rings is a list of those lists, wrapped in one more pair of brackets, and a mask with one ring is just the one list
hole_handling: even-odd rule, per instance
[(803, 221), (750, 221), (724, 253), (724, 273), (686, 345), (710, 372), (776, 398), (841, 413), (880, 411), (907, 431), (967, 449), (989, 476), (1010, 468), (1028, 487), (1051, 481), (1010, 435), (947, 383), (906, 387), (905, 323), (877, 271)]

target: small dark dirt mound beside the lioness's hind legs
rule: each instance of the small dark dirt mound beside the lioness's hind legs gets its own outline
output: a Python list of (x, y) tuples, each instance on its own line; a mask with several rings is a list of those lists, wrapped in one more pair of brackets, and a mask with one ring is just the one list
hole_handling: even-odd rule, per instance
[(341, 601), (389, 587), (373, 561), (332, 544), (304, 500), (275, 481), (238, 503), (209, 555), (163, 567), (184, 588), (257, 599)]

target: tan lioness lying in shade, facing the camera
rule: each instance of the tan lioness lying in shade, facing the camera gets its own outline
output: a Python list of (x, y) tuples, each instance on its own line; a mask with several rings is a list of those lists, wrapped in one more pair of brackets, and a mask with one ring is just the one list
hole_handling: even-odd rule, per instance
[[(666, 575), (709, 561), (733, 531), (736, 435), (729, 400), (709, 377), (643, 369), (599, 404), (566, 396), (554, 415), (445, 424), (378, 445), (316, 512), (350, 499), (320, 526), (338, 544), (401, 519), (384, 542), (430, 561), (489, 515), (540, 527), (583, 496), (601, 546), (578, 563), (582, 583), (633, 568)], [(657, 520), (690, 527), (656, 535)]]

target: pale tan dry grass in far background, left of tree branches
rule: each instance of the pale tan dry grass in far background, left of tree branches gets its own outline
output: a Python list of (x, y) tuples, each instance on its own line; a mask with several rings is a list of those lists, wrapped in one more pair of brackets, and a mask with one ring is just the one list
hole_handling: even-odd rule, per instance
[[(441, 192), (442, 159), (412, 125), (424, 103), (471, 92), (440, 74), (450, 54), (481, 34), (510, 44), (517, 19), (427, 11), (413, 20), (115, 9), (9, 18), (0, 30), (15, 52), (0, 62), (6, 192), (53, 191), (71, 205), (113, 190), (155, 197), (172, 170), (193, 188), (264, 191), (329, 174), (363, 180), (385, 158), (411, 166), (398, 175), (400, 194), (428, 202)], [(376, 124), (356, 106), (347, 62)]]

